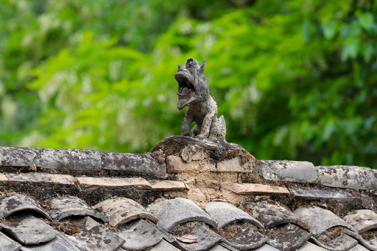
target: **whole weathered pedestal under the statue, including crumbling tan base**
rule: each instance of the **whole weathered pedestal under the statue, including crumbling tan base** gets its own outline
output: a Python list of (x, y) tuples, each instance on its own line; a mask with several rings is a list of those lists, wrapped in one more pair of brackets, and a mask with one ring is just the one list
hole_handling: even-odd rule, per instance
[(165, 178), (188, 185), (188, 191), (170, 192), (168, 197), (186, 197), (198, 204), (213, 200), (237, 204), (244, 198), (232, 192), (232, 185), (261, 181), (255, 172), (258, 160), (233, 143), (172, 136), (159, 142), (149, 154), (160, 165), (166, 165)]

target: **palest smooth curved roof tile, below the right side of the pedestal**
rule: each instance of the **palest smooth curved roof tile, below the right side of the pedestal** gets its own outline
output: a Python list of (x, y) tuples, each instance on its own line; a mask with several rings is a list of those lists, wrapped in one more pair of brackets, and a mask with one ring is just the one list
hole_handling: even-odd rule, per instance
[(251, 222), (253, 225), (263, 227), (249, 213), (245, 213), (241, 209), (225, 202), (210, 202), (205, 206), (205, 211), (217, 222), (217, 228), (222, 229), (232, 222)]

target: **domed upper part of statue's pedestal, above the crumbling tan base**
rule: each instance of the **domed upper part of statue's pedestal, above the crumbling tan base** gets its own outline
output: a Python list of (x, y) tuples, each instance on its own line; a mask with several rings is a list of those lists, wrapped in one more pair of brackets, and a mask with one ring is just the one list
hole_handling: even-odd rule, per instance
[(258, 165), (242, 146), (192, 137), (172, 136), (163, 139), (150, 154), (159, 164), (167, 165), (167, 173), (200, 172), (253, 172)]

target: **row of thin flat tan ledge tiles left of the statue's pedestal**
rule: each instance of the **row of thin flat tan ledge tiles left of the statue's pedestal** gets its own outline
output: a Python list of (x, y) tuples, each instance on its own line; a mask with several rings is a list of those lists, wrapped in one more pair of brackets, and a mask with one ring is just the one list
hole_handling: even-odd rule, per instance
[[(28, 195), (43, 198), (51, 195), (93, 195), (101, 199), (108, 194), (126, 195), (130, 191), (184, 191), (188, 187), (183, 181), (147, 181), (144, 178), (115, 178), (71, 176), (47, 173), (0, 173), (0, 188), (6, 192), (27, 192)], [(143, 193), (139, 197), (144, 196)]]

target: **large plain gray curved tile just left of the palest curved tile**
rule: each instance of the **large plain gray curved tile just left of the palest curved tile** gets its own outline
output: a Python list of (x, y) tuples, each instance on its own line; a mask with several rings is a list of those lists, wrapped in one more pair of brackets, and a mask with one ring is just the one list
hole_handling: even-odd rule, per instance
[(165, 231), (188, 221), (202, 221), (216, 226), (216, 222), (190, 199), (168, 199), (149, 206), (158, 218), (157, 226)]

